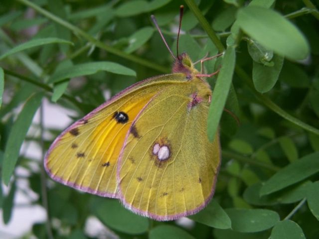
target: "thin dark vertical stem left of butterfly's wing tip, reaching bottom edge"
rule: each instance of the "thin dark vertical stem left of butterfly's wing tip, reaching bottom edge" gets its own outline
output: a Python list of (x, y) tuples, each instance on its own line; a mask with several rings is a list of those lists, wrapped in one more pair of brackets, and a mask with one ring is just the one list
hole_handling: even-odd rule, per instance
[[(44, 113), (43, 113), (43, 102), (40, 105), (40, 146), (41, 146), (41, 158), (44, 158)], [(46, 212), (46, 221), (45, 221), (45, 228), (46, 233), (49, 239), (53, 239), (52, 228), (50, 223), (50, 216), (49, 216), (49, 207), (48, 207), (48, 198), (47, 198), (47, 191), (46, 191), (46, 177), (43, 164), (40, 166), (40, 178), (41, 178), (41, 195), (42, 195), (42, 205)]]

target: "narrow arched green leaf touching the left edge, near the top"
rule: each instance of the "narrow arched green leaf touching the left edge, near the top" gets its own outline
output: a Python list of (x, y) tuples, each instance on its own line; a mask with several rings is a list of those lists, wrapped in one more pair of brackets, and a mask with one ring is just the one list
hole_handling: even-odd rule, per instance
[(52, 44), (52, 43), (63, 43), (63, 44), (72, 44), (72, 42), (70, 41), (66, 41), (60, 38), (55, 38), (55, 37), (47, 37), (47, 38), (41, 38), (41, 39), (33, 39), (33, 40), (29, 40), (25, 43), (22, 43), (18, 46), (13, 47), (12, 49), (8, 50), (7, 52), (5, 52), (3, 55), (0, 56), (0, 60), (2, 60), (3, 58), (12, 55), (14, 53), (17, 53), (19, 51), (23, 51), (32, 47), (36, 47), (36, 46), (42, 46), (42, 45), (46, 45), (46, 44)]

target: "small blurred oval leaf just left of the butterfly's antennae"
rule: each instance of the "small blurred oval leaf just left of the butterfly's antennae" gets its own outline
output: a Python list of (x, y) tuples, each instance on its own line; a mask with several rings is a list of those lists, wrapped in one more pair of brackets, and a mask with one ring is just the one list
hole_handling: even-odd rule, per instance
[(143, 46), (153, 35), (154, 28), (147, 26), (129, 37), (129, 46), (124, 50), (127, 53), (132, 53)]

